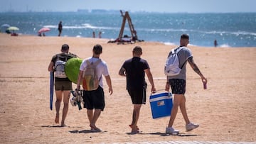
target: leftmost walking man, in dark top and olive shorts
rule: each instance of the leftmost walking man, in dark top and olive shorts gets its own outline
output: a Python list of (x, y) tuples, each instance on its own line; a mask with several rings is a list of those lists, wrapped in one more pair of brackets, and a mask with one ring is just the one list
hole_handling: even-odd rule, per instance
[[(55, 64), (57, 61), (62, 60), (67, 62), (70, 58), (77, 57), (77, 55), (68, 53), (69, 46), (67, 44), (62, 45), (61, 53), (57, 55), (53, 55), (50, 64), (48, 66), (49, 72), (54, 72), (55, 68), (57, 67)], [(55, 123), (59, 123), (59, 112), (60, 112), (60, 103), (63, 99), (63, 116), (61, 120), (60, 126), (65, 126), (65, 118), (68, 114), (68, 102), (70, 99), (70, 91), (72, 91), (72, 82), (68, 77), (58, 77), (55, 74), (55, 93), (56, 93), (56, 116), (55, 116)]]

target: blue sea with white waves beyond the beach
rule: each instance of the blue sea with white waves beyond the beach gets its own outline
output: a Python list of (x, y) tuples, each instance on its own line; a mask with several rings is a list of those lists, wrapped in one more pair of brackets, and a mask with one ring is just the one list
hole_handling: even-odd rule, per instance
[[(139, 40), (178, 45), (183, 33), (190, 44), (213, 47), (256, 47), (256, 13), (146, 13), (129, 12)], [(0, 26), (19, 28), (20, 35), (38, 35), (47, 27), (46, 36), (58, 35), (58, 23), (63, 22), (62, 36), (92, 38), (101, 31), (102, 38), (116, 39), (122, 25), (119, 11), (88, 12), (23, 12), (0, 13)], [(1, 28), (3, 32), (3, 28)], [(124, 35), (131, 35), (126, 23)]]

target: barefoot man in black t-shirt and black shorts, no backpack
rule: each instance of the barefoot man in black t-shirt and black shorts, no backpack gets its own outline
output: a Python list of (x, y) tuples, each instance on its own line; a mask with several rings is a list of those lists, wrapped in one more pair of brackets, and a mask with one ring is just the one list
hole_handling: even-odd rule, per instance
[(132, 51), (133, 57), (126, 60), (119, 70), (119, 75), (127, 78), (127, 91), (134, 104), (132, 113), (132, 134), (139, 133), (137, 122), (142, 104), (146, 104), (146, 82), (145, 73), (151, 84), (151, 92), (155, 92), (154, 81), (149, 69), (149, 64), (142, 59), (142, 48), (136, 46)]

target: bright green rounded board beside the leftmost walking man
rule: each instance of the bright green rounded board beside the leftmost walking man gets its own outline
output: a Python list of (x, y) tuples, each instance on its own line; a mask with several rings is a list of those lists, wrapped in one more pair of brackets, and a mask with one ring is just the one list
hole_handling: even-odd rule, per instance
[(70, 58), (70, 60), (65, 62), (65, 74), (67, 75), (68, 79), (75, 84), (78, 82), (78, 74), (80, 72), (81, 63), (82, 59), (76, 57)]

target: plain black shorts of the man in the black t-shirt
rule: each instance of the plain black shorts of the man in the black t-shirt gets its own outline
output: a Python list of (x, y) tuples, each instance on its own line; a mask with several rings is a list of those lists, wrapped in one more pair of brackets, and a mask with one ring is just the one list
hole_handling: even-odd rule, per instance
[(128, 89), (132, 104), (146, 104), (146, 89)]

